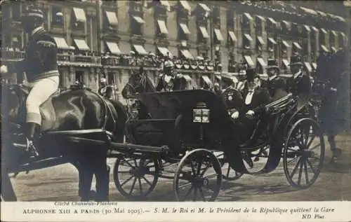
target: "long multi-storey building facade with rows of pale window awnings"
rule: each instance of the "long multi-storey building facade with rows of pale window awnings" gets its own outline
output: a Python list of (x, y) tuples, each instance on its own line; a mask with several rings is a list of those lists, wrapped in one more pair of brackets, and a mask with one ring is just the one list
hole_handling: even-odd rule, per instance
[[(321, 51), (349, 46), (350, 30), (344, 11), (336, 15), (318, 4), (308, 8), (299, 2), (36, 1), (60, 48), (60, 85), (79, 80), (97, 90), (105, 76), (118, 92), (138, 69), (138, 60), (150, 53), (186, 61), (205, 57), (229, 73), (237, 73), (238, 64), (245, 62), (265, 74), (268, 58), (276, 58), (281, 69), (289, 71), (289, 57), (299, 52), (311, 71)], [(2, 6), (2, 62), (22, 55), (27, 36), (18, 20), (25, 4)], [(131, 51), (138, 55), (133, 61)], [(156, 80), (159, 68), (146, 70)], [(214, 80), (212, 70), (179, 71), (198, 83), (204, 75)]]

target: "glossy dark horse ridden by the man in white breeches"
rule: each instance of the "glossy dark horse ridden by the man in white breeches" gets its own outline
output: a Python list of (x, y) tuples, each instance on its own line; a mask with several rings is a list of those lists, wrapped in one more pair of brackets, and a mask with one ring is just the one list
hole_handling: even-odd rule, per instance
[[(112, 133), (111, 137), (114, 141), (123, 142), (126, 122), (124, 106), (117, 101), (104, 99), (87, 89), (65, 90), (53, 95), (41, 105), (43, 120), (36, 139), (39, 156), (32, 157), (25, 148), (14, 146), (20, 138), (21, 125), (25, 123), (26, 97), (27, 90), (20, 85), (5, 85), (4, 87), (1, 85), (1, 138), (4, 142), (1, 146), (3, 151), (1, 181), (8, 182), (6, 183), (8, 186), (1, 190), (1, 196), (4, 200), (16, 200), (11, 182), (8, 179), (8, 171), (20, 171), (16, 171), (16, 169), (25, 164), (28, 164), (30, 169), (48, 167), (49, 162), (42, 167), (31, 168), (30, 166), (37, 165), (40, 160), (56, 158), (62, 160), (62, 163), (70, 162), (77, 167), (81, 200), (90, 199), (91, 183), (93, 174), (95, 174), (95, 200), (107, 201), (110, 181), (110, 169), (106, 162), (107, 148), (67, 143), (65, 135), (79, 137), (83, 132), (81, 130), (84, 130), (87, 139), (95, 137), (99, 139), (102, 137), (103, 130), (107, 130)], [(102, 133), (95, 133), (98, 129)], [(67, 132), (67, 134), (60, 134), (62, 131)]]

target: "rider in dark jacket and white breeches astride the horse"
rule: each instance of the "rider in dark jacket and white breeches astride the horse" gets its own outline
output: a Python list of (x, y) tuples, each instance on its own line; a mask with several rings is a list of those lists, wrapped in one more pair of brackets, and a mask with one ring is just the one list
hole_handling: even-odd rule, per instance
[(33, 146), (37, 127), (41, 125), (39, 106), (58, 90), (59, 72), (57, 62), (58, 46), (44, 29), (44, 13), (35, 6), (27, 7), (21, 18), (22, 27), (29, 34), (25, 47), (25, 59), (13, 62), (8, 67), (1, 66), (1, 73), (22, 73), (25, 71), (27, 85), (31, 88), (26, 101), (26, 137)]

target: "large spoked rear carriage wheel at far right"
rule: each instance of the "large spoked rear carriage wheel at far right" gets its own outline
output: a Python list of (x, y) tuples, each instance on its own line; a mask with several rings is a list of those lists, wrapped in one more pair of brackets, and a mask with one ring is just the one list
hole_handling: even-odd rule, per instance
[(284, 145), (284, 174), (296, 188), (309, 188), (317, 180), (324, 162), (324, 138), (318, 123), (310, 118), (298, 120)]

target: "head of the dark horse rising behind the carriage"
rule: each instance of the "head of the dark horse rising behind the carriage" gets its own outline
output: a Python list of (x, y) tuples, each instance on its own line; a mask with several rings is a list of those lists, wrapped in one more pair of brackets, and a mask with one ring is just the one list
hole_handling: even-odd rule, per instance
[(154, 91), (155, 88), (154, 85), (152, 85), (150, 78), (147, 77), (147, 74), (144, 71), (141, 71), (131, 75), (121, 93), (125, 99), (130, 99), (137, 93)]

